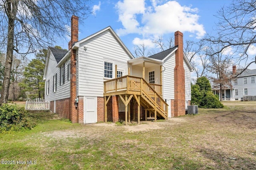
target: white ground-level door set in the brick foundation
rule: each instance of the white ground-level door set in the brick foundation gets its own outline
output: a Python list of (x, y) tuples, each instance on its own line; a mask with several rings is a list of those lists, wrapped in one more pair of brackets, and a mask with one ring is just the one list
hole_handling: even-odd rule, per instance
[(97, 122), (97, 97), (84, 97), (84, 123)]

